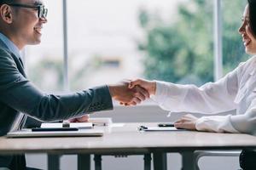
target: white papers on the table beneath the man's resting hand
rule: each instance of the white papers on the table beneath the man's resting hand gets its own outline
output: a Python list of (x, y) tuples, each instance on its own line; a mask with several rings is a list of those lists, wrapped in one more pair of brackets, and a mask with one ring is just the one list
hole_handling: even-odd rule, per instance
[[(61, 122), (49, 122), (49, 123), (42, 123), (42, 128), (53, 128), (53, 127), (63, 127)], [(79, 129), (89, 129), (92, 128), (92, 122), (71, 122), (69, 123), (69, 127), (77, 127)]]

